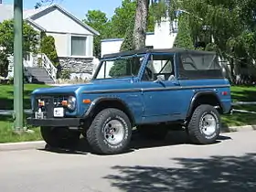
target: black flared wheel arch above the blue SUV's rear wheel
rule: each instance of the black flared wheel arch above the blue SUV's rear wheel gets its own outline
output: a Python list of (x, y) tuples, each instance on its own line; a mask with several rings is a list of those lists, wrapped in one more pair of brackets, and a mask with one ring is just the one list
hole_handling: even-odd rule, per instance
[(217, 107), (219, 112), (223, 112), (223, 106), (219, 100), (219, 96), (214, 91), (197, 91), (194, 96), (191, 98), (189, 103), (187, 118), (191, 117), (194, 110), (200, 104), (210, 104), (214, 107)]

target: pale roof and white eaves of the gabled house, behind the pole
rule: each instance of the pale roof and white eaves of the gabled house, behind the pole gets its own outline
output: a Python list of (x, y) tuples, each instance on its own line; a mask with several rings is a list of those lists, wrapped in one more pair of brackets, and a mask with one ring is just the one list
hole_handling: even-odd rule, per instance
[[(100, 33), (95, 30), (94, 28), (88, 26), (87, 24), (80, 21), (79, 18), (70, 14), (67, 10), (59, 5), (47, 5), (41, 6), (37, 9), (28, 9), (23, 11), (23, 18), (26, 19), (32, 26), (37, 27), (39, 30), (46, 31), (45, 28), (40, 27), (36, 22), (34, 22), (34, 18), (37, 16), (44, 16), (48, 13), (49, 10), (57, 8), (61, 13), (66, 16), (69, 16), (74, 22), (79, 24), (81, 27), (86, 28), (87, 30), (91, 31), (92, 34), (99, 36)], [(7, 19), (12, 19), (14, 17), (13, 5), (4, 5), (0, 4), (0, 22), (3, 22)]]

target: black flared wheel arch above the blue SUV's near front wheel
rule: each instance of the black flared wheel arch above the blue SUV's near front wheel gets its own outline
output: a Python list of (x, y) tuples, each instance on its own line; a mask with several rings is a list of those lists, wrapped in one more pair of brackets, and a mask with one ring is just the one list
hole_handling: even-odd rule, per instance
[(97, 98), (91, 102), (91, 105), (87, 112), (84, 113), (84, 118), (90, 117), (94, 118), (99, 112), (106, 108), (115, 108), (123, 111), (130, 119), (132, 125), (135, 123), (133, 112), (130, 110), (129, 106), (120, 98)]

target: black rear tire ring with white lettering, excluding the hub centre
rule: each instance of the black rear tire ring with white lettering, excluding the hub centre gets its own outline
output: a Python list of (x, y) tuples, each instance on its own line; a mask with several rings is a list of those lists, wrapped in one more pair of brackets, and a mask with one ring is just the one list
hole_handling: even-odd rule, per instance
[[(204, 115), (210, 114), (216, 121), (214, 133), (207, 135), (201, 129), (202, 118)], [(189, 140), (194, 144), (213, 144), (219, 137), (221, 130), (219, 112), (211, 105), (202, 104), (199, 105), (193, 112), (189, 123), (187, 124), (187, 135)]]

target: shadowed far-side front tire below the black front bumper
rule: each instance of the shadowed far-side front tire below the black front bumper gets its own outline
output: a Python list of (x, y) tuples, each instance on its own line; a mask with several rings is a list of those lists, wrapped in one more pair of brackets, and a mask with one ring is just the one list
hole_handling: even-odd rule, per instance
[(69, 127), (40, 127), (44, 141), (50, 147), (75, 147), (80, 141), (80, 132), (69, 130)]

